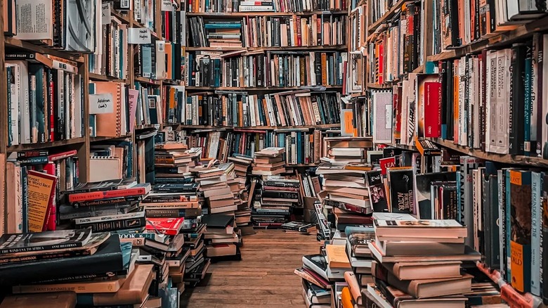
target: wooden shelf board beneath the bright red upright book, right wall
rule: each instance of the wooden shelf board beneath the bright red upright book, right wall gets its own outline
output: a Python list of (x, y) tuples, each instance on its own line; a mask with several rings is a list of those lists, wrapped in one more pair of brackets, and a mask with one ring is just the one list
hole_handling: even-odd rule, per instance
[(443, 146), (445, 148), (450, 148), (460, 153), (464, 153), (475, 158), (481, 158), (482, 160), (491, 160), (493, 162), (501, 162), (503, 164), (509, 165), (525, 165), (525, 166), (535, 166), (535, 167), (548, 167), (548, 160), (542, 158), (523, 156), (523, 155), (508, 155), (508, 154), (497, 154), (497, 153), (487, 153), (483, 150), (478, 150), (474, 148), (469, 148), (467, 146), (459, 146), (452, 141), (444, 140), (441, 138), (428, 138), (433, 143)]

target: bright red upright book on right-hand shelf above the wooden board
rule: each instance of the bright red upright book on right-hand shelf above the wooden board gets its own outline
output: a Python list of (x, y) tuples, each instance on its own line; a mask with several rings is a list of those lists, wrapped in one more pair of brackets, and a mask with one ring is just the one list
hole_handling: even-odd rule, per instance
[(424, 82), (424, 136), (441, 137), (440, 82)]

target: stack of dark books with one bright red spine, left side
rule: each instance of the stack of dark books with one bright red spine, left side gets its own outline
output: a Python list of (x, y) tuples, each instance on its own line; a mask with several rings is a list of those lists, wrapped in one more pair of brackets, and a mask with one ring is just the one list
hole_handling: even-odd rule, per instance
[(137, 184), (135, 178), (79, 183), (65, 192), (59, 215), (76, 229), (93, 232), (142, 228), (145, 207), (141, 200), (150, 190), (150, 184)]

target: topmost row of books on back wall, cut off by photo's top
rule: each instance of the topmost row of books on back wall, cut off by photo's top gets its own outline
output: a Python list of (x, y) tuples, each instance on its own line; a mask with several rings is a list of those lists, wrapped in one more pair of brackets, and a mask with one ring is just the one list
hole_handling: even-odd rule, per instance
[(187, 11), (192, 13), (235, 13), (235, 12), (306, 12), (335, 11), (346, 8), (345, 0), (214, 0), (211, 2), (188, 1)]

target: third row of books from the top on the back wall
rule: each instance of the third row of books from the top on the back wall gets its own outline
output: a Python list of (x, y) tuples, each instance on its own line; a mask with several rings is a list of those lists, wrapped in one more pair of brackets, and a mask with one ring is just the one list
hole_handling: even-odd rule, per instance
[(240, 52), (197, 51), (188, 53), (188, 86), (341, 86), (347, 55), (345, 52), (267, 51)]

